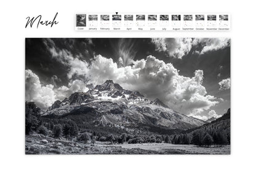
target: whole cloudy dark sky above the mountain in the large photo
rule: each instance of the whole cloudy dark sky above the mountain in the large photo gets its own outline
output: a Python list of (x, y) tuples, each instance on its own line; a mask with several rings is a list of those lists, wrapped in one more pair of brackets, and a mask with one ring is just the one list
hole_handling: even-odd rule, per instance
[(26, 38), (25, 99), (54, 101), (111, 79), (207, 120), (230, 108), (228, 38)]

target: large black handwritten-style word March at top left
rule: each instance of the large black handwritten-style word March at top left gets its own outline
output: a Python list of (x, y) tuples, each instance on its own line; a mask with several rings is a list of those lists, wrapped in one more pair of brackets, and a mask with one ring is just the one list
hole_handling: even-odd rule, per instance
[(36, 17), (36, 18), (33, 17), (33, 18), (31, 18), (31, 19), (30, 19), (30, 17), (26, 17), (26, 20), (28, 20), (28, 21), (26, 22), (25, 28), (26, 28), (28, 25), (30, 25), (30, 27), (32, 28), (32, 26), (34, 25), (34, 22), (35, 22), (35, 21), (38, 21), (38, 22), (37, 22), (38, 25), (37, 25), (36, 28), (38, 28), (39, 24), (40, 24), (40, 25), (45, 25), (45, 26), (48, 26), (48, 25), (49, 25), (50, 27), (52, 27), (52, 26), (54, 26), (54, 25), (57, 25), (57, 24), (58, 24), (58, 21), (55, 21), (57, 15), (58, 15), (58, 12), (55, 14), (55, 17), (54, 17), (54, 19), (53, 19), (52, 21), (48, 21), (48, 20), (43, 21), (43, 20), (42, 20), (42, 15), (38, 15), (38, 17)]

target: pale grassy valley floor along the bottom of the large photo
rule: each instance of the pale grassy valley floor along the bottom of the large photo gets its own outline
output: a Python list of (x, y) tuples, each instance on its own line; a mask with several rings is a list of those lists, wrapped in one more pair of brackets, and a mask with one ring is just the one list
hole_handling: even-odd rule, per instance
[(26, 154), (230, 154), (230, 145), (224, 147), (197, 147), (174, 144), (83, 144), (51, 137), (25, 136)]

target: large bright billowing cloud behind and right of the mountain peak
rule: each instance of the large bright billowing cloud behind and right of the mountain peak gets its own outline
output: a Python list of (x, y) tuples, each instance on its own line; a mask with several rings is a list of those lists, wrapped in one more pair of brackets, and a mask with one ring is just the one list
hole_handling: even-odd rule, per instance
[(134, 61), (133, 66), (118, 68), (111, 58), (97, 55), (86, 75), (93, 85), (111, 79), (126, 89), (140, 91), (148, 98), (159, 98), (184, 114), (202, 112), (218, 103), (202, 86), (203, 71), (195, 71), (194, 77), (185, 77), (171, 63), (166, 64), (154, 56)]

